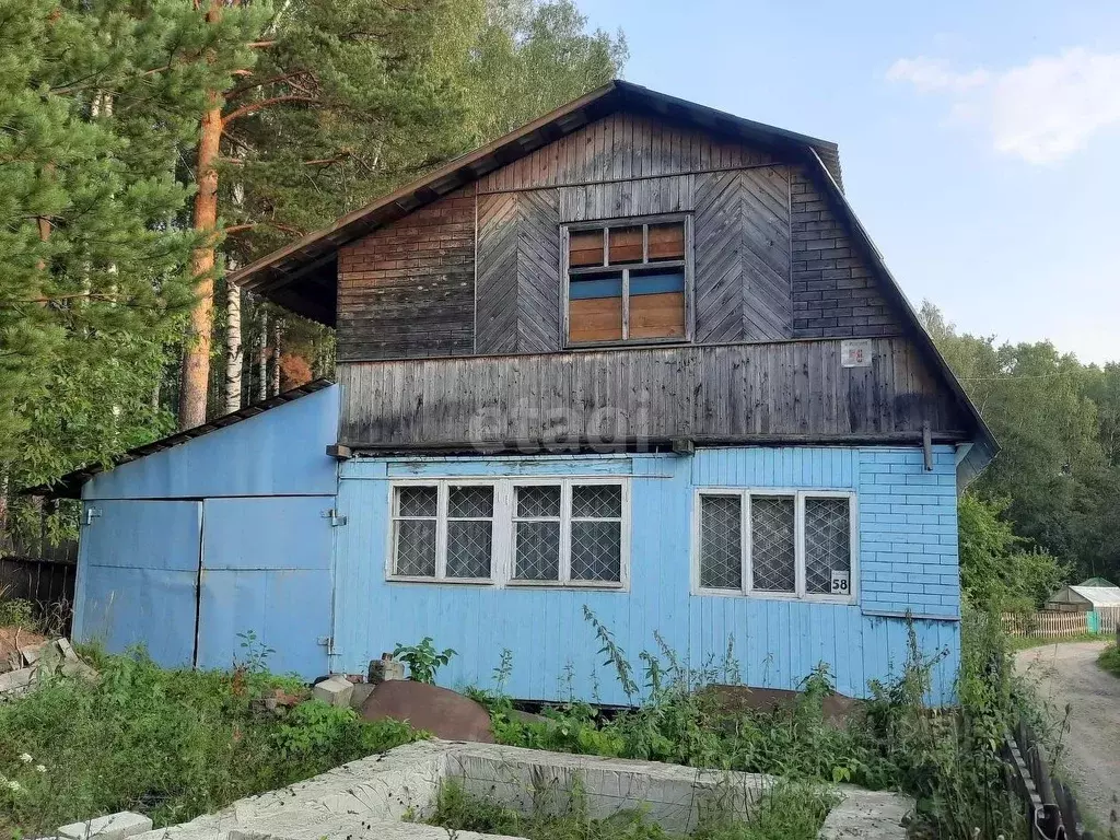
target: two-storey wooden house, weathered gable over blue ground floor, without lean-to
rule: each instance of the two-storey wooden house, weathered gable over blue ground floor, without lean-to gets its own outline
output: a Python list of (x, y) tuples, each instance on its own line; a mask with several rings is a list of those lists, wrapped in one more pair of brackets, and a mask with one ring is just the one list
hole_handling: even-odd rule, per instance
[(432, 636), (449, 684), (508, 650), (514, 697), (625, 702), (590, 614), (635, 661), (859, 697), (912, 620), (951, 697), (956, 493), (996, 444), (833, 143), (613, 82), (232, 279), (336, 329), (305, 673)]

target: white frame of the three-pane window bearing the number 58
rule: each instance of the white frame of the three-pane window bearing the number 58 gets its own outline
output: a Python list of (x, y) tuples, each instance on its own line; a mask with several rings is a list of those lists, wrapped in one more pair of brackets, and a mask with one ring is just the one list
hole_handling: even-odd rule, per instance
[[(700, 586), (700, 519), (701, 498), (703, 496), (736, 496), (739, 502), (739, 535), (743, 571), (743, 585), (738, 589), (715, 589)], [(752, 558), (750, 502), (754, 496), (785, 496), (794, 500), (794, 591), (775, 592), (754, 588), (754, 567)], [(848, 595), (831, 595), (805, 591), (805, 500), (806, 498), (847, 498), (848, 500), (848, 539), (851, 557), (848, 572)], [(823, 604), (857, 604), (859, 601), (859, 512), (855, 491), (838, 489), (800, 489), (783, 487), (697, 487), (692, 496), (692, 562), (691, 591), (693, 595), (713, 595), (721, 597), (747, 597), (759, 600), (802, 600)]]

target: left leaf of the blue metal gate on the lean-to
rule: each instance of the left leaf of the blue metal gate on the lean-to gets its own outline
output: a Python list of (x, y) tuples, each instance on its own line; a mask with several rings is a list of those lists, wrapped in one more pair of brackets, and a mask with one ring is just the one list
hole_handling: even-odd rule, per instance
[(74, 637), (111, 652), (143, 645), (165, 668), (195, 653), (200, 502), (83, 506)]

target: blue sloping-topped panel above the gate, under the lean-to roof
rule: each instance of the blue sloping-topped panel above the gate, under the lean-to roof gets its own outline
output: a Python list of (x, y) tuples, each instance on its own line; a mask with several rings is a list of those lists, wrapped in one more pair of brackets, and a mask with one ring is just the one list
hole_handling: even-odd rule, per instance
[(334, 495), (338, 386), (94, 476), (83, 498)]

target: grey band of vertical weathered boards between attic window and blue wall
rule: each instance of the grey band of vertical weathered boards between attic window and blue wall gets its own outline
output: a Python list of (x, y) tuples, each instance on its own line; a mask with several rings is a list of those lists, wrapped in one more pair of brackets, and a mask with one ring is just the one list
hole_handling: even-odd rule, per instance
[(874, 339), (868, 367), (821, 340), (362, 363), (339, 382), (340, 442), (356, 448), (963, 428), (903, 338)]

